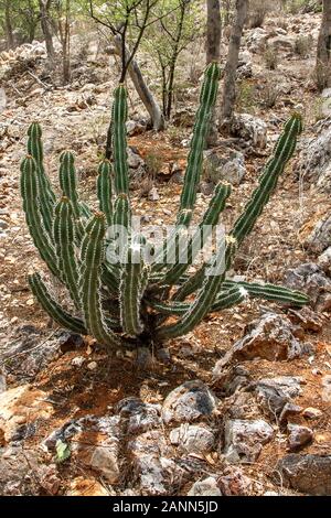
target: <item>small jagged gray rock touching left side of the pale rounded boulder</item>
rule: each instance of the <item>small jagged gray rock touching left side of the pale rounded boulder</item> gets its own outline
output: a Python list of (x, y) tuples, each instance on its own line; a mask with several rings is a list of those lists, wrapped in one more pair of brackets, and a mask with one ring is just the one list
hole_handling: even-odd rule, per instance
[(161, 423), (161, 406), (145, 403), (138, 398), (126, 398), (116, 406), (116, 411), (127, 420), (127, 433), (142, 433)]

